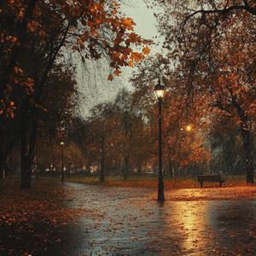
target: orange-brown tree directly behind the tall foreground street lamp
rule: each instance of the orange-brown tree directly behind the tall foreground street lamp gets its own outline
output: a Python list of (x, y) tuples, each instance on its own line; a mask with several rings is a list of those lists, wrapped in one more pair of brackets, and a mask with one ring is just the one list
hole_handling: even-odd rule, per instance
[[(162, 55), (147, 58), (138, 65), (131, 82), (136, 88), (135, 94), (143, 102), (143, 112), (147, 113), (155, 153), (157, 106), (154, 83), (160, 77), (161, 83), (166, 85), (163, 101), (163, 154), (165, 166), (168, 166), (169, 174), (174, 177), (181, 169), (207, 163), (210, 153), (205, 146), (205, 125), (201, 124), (201, 110), (197, 106), (200, 106), (201, 100), (191, 102), (186, 87), (179, 83), (177, 77), (172, 76), (172, 69), (168, 65), (168, 59)], [(186, 131), (187, 125), (192, 126), (192, 131)]]

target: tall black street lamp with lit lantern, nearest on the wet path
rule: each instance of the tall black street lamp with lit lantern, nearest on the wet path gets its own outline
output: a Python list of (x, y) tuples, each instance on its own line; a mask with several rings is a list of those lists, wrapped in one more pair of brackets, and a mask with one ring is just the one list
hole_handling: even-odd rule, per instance
[(154, 87), (155, 95), (158, 99), (158, 125), (159, 125), (159, 137), (158, 137), (158, 195), (157, 201), (165, 201), (164, 195), (164, 179), (163, 179), (163, 164), (162, 164), (162, 100), (165, 94), (165, 86), (160, 84), (160, 79), (158, 84)]

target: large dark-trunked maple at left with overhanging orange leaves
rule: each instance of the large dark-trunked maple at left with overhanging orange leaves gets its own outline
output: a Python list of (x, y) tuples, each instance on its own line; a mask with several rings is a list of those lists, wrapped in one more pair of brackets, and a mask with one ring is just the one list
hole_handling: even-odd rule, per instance
[[(119, 3), (115, 1), (30, 0), (3, 2), (0, 8), (1, 134), (7, 129), (6, 119), (16, 113), (21, 124), (21, 188), (27, 189), (41, 96), (55, 61), (63, 61), (64, 49), (79, 52), (82, 60), (108, 56), (113, 68), (108, 79), (113, 79), (113, 75), (119, 75), (120, 67), (143, 59), (143, 54), (131, 49), (131, 45), (150, 42), (133, 32), (135, 23), (119, 12)], [(143, 52), (147, 50), (144, 48)]]

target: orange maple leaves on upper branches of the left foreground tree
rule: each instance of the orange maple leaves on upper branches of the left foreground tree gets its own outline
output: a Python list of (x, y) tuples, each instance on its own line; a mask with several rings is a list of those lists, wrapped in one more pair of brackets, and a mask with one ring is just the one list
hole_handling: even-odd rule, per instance
[[(8, 113), (4, 108), (9, 106), (9, 91), (14, 90), (15, 85), (26, 87), (27, 93), (33, 92), (34, 78), (28, 77), (26, 70), (19, 67), (18, 55), (15, 54), (17, 51), (22, 57), (23, 52), (20, 49), (26, 48), (24, 38), (37, 38), (38, 44), (44, 48), (55, 35), (60, 49), (70, 47), (78, 51), (83, 60), (98, 60), (102, 55), (108, 55), (110, 66), (113, 67), (113, 73), (108, 76), (109, 80), (112, 80), (114, 75), (119, 75), (120, 67), (133, 66), (131, 61), (141, 61), (149, 52), (148, 46), (145, 45), (151, 44), (151, 41), (139, 37), (133, 31), (136, 24), (130, 17), (121, 13), (118, 1), (49, 0), (35, 3), (29, 16), (25, 14), (30, 7), (22, 1), (8, 1), (3, 3), (4, 8), (0, 9), (1, 15), (12, 15), (14, 22), (20, 21), (26, 25), (24, 31), (15, 31), (10, 26), (0, 33), (3, 45), (1, 57), (3, 63), (6, 63), (3, 73), (0, 73), (0, 81), (7, 81), (2, 83), (0, 88), (0, 100), (4, 101), (4, 104), (0, 105), (0, 114)], [(34, 43), (29, 41), (29, 44)], [(132, 44), (141, 45), (142, 48), (140, 51), (134, 51)], [(9, 61), (15, 63), (11, 75), (4, 74), (5, 69), (10, 67)], [(11, 90), (7, 90), (8, 86)]]

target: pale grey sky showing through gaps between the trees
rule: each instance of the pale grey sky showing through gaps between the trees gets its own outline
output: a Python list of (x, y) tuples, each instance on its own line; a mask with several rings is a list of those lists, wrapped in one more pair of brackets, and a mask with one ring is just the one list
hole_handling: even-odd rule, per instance
[[(129, 0), (127, 2), (129, 3), (124, 4), (121, 9), (126, 16), (131, 17), (136, 22), (135, 32), (143, 38), (152, 39), (157, 43), (158, 39), (155, 40), (154, 38), (158, 33), (153, 9), (148, 9), (143, 0)], [(152, 45), (151, 54), (157, 51), (160, 51), (160, 46)], [(81, 102), (81, 114), (83, 116), (88, 115), (90, 108), (97, 103), (113, 100), (120, 88), (131, 88), (129, 83), (132, 73), (131, 67), (123, 68), (120, 77), (110, 82), (108, 81), (109, 70), (106, 66), (103, 64), (102, 67), (91, 67), (88, 68), (87, 72), (83, 72), (83, 68), (78, 67), (79, 88), (84, 95), (84, 100)]]

